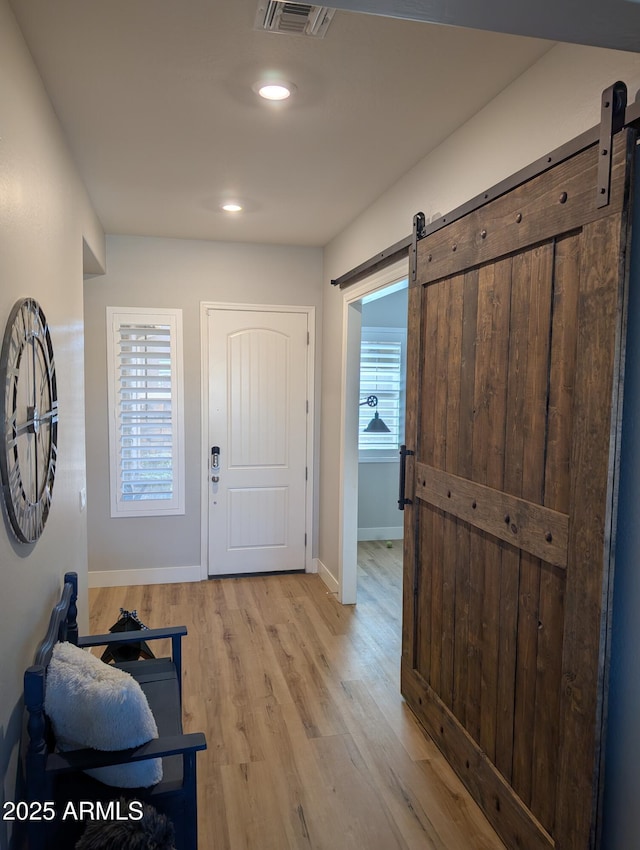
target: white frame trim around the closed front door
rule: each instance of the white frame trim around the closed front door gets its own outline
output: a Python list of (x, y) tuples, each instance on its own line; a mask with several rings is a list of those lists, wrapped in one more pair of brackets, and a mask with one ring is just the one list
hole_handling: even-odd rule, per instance
[[(200, 302), (200, 578), (209, 578), (209, 310), (251, 311), (258, 313), (303, 313), (307, 316), (309, 344), (307, 345), (307, 482), (305, 496), (305, 572), (317, 571), (317, 561), (313, 557), (314, 548), (314, 423), (315, 423), (315, 350), (316, 350), (316, 308), (291, 304), (239, 304), (221, 301)], [(268, 573), (265, 573), (268, 575)]]

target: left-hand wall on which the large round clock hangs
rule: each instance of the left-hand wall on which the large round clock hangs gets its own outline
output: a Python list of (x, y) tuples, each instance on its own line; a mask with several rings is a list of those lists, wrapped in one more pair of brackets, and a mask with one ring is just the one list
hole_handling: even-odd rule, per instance
[[(6, 0), (0, 0), (0, 332), (19, 298), (36, 298), (51, 328), (60, 409), (58, 466), (47, 525), (35, 546), (0, 521), (0, 759), (2, 800), (17, 777), (22, 677), (44, 636), (66, 570), (79, 574), (86, 623), (86, 514), (82, 330), (83, 238), (104, 260), (103, 236), (63, 134)], [(2, 388), (2, 391), (4, 389)], [(8, 847), (0, 819), (0, 848)]]

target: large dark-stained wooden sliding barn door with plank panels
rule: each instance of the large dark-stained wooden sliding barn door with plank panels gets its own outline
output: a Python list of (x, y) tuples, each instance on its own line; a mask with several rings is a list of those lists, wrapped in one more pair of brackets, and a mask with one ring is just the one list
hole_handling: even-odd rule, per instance
[(402, 691), (508, 850), (596, 843), (633, 143), (416, 242)]

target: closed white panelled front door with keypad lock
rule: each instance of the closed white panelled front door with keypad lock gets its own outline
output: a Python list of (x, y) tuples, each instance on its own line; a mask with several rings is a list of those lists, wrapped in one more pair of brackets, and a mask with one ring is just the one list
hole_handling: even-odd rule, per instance
[(208, 310), (209, 575), (305, 567), (307, 325)]

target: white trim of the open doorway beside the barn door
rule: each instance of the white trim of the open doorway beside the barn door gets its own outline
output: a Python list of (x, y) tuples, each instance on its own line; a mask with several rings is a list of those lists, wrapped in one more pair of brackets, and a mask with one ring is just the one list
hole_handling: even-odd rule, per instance
[[(360, 386), (360, 313), (356, 303), (379, 289), (409, 277), (409, 257), (343, 290), (342, 416), (340, 417), (340, 504), (338, 522), (338, 600), (356, 602), (358, 586), (358, 412)], [(355, 494), (355, 498), (354, 498)]]

